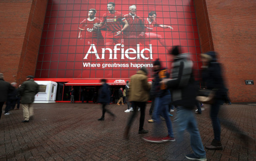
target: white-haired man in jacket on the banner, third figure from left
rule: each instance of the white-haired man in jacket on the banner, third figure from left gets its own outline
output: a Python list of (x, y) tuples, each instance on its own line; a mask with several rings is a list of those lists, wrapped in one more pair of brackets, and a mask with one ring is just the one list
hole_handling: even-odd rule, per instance
[(128, 28), (123, 32), (125, 48), (136, 48), (144, 35), (144, 23), (141, 17), (136, 15), (136, 6), (129, 6), (129, 11), (125, 18), (128, 22)]

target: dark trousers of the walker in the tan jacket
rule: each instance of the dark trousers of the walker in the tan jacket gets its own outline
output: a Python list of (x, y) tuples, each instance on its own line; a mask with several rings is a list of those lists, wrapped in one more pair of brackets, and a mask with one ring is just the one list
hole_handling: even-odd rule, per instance
[(146, 102), (136, 102), (133, 101), (132, 102), (132, 106), (133, 106), (133, 111), (132, 111), (132, 115), (130, 116), (129, 120), (128, 120), (128, 127), (131, 127), (135, 117), (137, 116), (138, 113), (138, 107), (141, 108), (141, 117), (140, 117), (140, 127), (139, 130), (143, 129), (144, 126), (144, 120), (145, 120), (145, 109), (146, 109)]

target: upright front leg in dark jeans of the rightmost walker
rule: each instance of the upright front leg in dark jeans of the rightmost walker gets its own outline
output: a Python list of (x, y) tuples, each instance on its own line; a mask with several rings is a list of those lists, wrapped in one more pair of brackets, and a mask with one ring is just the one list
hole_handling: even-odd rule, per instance
[(214, 132), (214, 140), (221, 141), (221, 123), (218, 117), (218, 113), (222, 104), (222, 100), (216, 100), (215, 103), (211, 105), (210, 117), (212, 120), (212, 127)]

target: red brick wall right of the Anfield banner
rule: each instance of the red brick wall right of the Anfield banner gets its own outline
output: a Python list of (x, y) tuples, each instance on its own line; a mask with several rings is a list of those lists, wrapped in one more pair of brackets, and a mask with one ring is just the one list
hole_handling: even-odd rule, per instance
[(194, 2), (202, 52), (219, 53), (231, 102), (255, 102), (256, 86), (245, 84), (245, 80), (256, 81), (255, 1)]

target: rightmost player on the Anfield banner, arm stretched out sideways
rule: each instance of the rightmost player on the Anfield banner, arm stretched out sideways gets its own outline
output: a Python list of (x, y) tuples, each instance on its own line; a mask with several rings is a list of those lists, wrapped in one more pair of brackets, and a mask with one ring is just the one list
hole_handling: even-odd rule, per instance
[(151, 39), (157, 39), (162, 46), (165, 47), (165, 49), (168, 51), (168, 47), (165, 45), (165, 40), (162, 37), (162, 35), (156, 34), (153, 32), (154, 27), (162, 27), (162, 28), (169, 28), (173, 30), (171, 26), (167, 25), (160, 25), (156, 23), (156, 13), (155, 11), (151, 11), (148, 13), (148, 18), (144, 20), (145, 25), (145, 45), (150, 44)]

